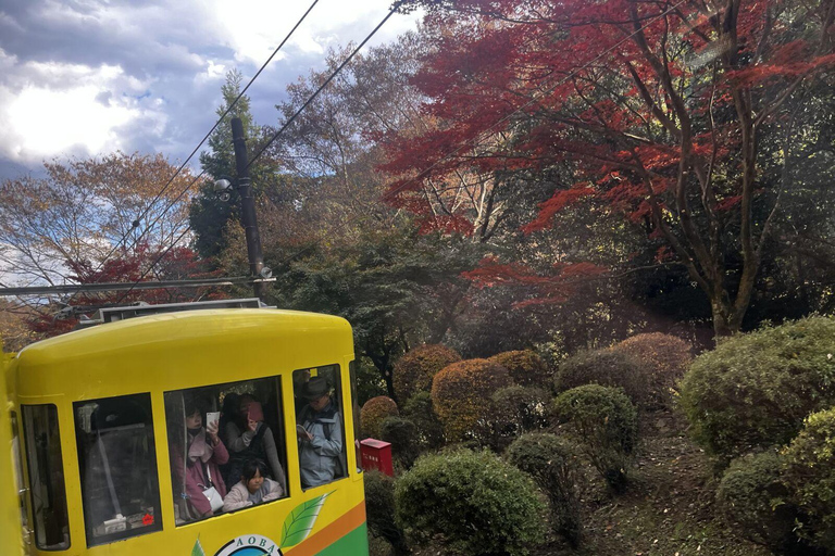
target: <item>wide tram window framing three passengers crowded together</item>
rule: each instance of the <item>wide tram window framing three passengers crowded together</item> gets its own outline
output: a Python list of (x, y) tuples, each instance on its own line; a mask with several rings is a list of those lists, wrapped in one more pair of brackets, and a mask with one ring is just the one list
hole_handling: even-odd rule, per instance
[(165, 392), (177, 525), (287, 496), (282, 416), (278, 377)]

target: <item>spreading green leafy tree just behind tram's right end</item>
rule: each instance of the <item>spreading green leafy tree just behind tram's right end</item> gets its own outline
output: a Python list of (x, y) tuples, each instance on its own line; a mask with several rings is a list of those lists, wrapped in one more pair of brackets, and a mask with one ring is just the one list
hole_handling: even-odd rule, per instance
[(313, 254), (279, 267), (276, 303), (339, 315), (354, 345), (394, 391), (394, 363), (413, 344), (437, 341), (452, 325), (468, 287), (460, 273), (472, 250), (411, 227), (367, 230), (351, 244), (316, 243)]

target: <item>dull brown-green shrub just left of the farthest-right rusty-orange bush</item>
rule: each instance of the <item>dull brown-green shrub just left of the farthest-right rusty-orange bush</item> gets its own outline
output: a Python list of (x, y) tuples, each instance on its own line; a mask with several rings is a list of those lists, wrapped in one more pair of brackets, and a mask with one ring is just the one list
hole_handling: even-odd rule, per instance
[(620, 387), (636, 405), (649, 399), (649, 375), (640, 361), (612, 350), (581, 352), (560, 365), (554, 386), (564, 392), (584, 384)]

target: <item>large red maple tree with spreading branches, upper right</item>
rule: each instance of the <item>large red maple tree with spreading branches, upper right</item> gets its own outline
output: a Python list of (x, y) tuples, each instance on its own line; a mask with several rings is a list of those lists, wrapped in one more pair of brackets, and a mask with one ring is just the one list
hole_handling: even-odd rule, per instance
[[(813, 127), (803, 104), (832, 85), (835, 2), (413, 3), (427, 9), (432, 53), (413, 84), (433, 126), (387, 138), (388, 202), (425, 228), (486, 233), (520, 175), (568, 166), (526, 232), (605, 202), (670, 248), (716, 334), (739, 330), (789, 187), (765, 166), (788, 164)], [(490, 202), (461, 201), (475, 195)], [(479, 279), (508, 274), (491, 264)]]

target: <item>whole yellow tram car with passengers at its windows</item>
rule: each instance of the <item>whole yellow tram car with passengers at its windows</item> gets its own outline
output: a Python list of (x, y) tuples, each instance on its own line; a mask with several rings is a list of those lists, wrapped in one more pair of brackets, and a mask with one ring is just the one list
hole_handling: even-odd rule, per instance
[(350, 325), (195, 308), (4, 356), (4, 556), (367, 556)]

